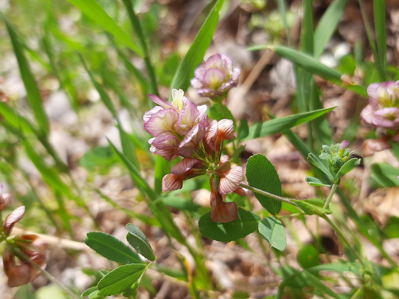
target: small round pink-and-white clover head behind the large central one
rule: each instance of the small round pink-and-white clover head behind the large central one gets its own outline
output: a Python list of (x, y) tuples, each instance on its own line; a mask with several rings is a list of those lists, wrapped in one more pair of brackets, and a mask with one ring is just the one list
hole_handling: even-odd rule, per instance
[(228, 56), (215, 54), (197, 67), (191, 85), (200, 96), (216, 99), (237, 86), (240, 73)]

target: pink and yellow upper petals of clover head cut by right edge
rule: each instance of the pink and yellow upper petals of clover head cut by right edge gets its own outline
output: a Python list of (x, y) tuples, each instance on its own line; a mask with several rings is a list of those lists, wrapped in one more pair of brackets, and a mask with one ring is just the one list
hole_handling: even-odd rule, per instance
[(372, 83), (367, 87), (369, 104), (361, 118), (373, 126), (399, 129), (399, 81)]

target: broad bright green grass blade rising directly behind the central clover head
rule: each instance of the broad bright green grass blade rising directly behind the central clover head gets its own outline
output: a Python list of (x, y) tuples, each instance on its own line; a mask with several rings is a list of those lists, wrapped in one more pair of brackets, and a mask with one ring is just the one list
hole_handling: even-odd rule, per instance
[(186, 90), (190, 85), (190, 79), (194, 77), (194, 70), (202, 62), (205, 52), (212, 41), (223, 2), (224, 0), (212, 0), (211, 4), (209, 4), (214, 8), (199, 30), (182, 63), (180, 63), (170, 89)]

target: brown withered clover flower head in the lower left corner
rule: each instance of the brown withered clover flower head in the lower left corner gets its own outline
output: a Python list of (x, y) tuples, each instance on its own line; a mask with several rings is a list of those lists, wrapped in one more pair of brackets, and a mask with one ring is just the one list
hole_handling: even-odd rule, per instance
[[(25, 214), (25, 207), (18, 207), (4, 220), (3, 232), (10, 236), (14, 225)], [(46, 266), (45, 250), (47, 244), (35, 234), (22, 234), (7, 238), (7, 245), (3, 252), (4, 272), (8, 277), (9, 287), (18, 287), (40, 276), (40, 268)], [(17, 263), (17, 259), (19, 260)], [(35, 267), (36, 264), (38, 267)]]

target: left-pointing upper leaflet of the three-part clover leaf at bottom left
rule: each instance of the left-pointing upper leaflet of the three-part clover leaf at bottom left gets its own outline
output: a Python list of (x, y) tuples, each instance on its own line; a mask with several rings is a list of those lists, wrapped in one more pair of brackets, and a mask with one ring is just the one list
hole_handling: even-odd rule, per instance
[(143, 263), (136, 252), (114, 236), (105, 232), (88, 232), (85, 243), (103, 257), (120, 263)]

